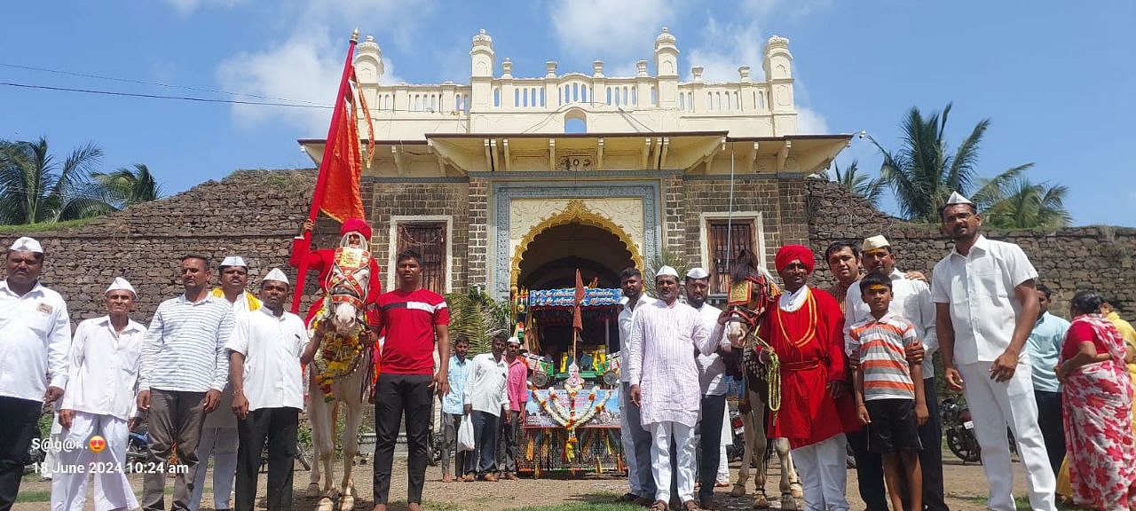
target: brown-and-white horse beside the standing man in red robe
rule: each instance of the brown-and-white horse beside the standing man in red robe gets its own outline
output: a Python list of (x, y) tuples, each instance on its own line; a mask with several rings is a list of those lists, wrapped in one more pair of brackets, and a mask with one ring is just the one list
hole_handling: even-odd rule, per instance
[[(732, 285), (727, 310), (730, 311), (732, 316), (727, 322), (726, 337), (735, 346), (745, 345), (742, 369), (750, 410), (742, 414), (745, 452), (742, 455), (742, 468), (737, 475), (737, 483), (729, 494), (733, 496), (745, 495), (745, 483), (750, 479), (750, 464), (757, 461), (753, 508), (768, 509), (769, 499), (766, 496), (766, 478), (769, 469), (768, 439), (766, 438), (766, 411), (768, 407), (759, 392), (761, 386), (767, 385), (768, 382), (765, 378), (765, 366), (760, 363), (753, 351), (757, 340), (751, 333), (757, 329), (758, 322), (768, 308), (774, 307), (779, 291), (774, 284), (772, 276), (754, 262), (753, 256), (743, 250), (730, 271)], [(796, 510), (803, 505), (803, 503), (799, 504), (803, 492), (796, 470), (793, 468), (788, 438), (774, 438), (772, 445), (782, 469), (780, 509)]]

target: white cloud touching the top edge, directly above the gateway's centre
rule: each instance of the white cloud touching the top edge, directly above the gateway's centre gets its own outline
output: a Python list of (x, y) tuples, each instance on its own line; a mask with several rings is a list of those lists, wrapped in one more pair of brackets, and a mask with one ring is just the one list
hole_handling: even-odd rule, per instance
[(676, 1), (554, 0), (549, 24), (570, 57), (634, 61), (652, 55), (654, 37), (675, 18)]

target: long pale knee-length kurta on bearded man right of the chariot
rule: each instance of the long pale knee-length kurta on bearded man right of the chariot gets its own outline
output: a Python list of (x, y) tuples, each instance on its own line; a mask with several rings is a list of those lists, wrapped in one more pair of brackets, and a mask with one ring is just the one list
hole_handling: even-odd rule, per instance
[(643, 427), (678, 422), (693, 428), (699, 421), (702, 388), (695, 352), (713, 353), (721, 337), (711, 332), (699, 311), (677, 300), (659, 300), (635, 310), (628, 343), (630, 383), (640, 386)]

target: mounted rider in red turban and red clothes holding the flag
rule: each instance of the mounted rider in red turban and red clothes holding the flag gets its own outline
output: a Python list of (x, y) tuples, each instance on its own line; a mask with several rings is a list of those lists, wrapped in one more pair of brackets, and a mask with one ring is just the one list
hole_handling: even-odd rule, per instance
[[(292, 238), (292, 259), (289, 262), (300, 268), (303, 259), (307, 258), (308, 270), (319, 271), (319, 288), (326, 293), (327, 275), (332, 273), (332, 268), (335, 266), (335, 249), (312, 250), (310, 238), (304, 236), (304, 234), (311, 232), (312, 226), (314, 223), (311, 220), (303, 220), (300, 235)], [(366, 220), (348, 218), (343, 220), (343, 226), (340, 227), (340, 246), (350, 246), (366, 251), (368, 250), (367, 245), (370, 241), (370, 226), (367, 225)], [(367, 282), (367, 299), (365, 300), (365, 304), (367, 322), (375, 325), (378, 322), (378, 317), (373, 305), (377, 303), (378, 295), (383, 294), (383, 275), (378, 273), (378, 263), (375, 262), (374, 256), (369, 259), (370, 279)], [(311, 324), (311, 318), (316, 316), (323, 303), (323, 298), (312, 303), (311, 309), (308, 310), (308, 316), (304, 317), (304, 325)]]

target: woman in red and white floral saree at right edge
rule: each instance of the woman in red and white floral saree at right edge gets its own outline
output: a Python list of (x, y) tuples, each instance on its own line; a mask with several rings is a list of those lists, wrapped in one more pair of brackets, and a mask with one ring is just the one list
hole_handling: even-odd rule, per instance
[(1069, 305), (1072, 325), (1061, 350), (1067, 462), (1074, 504), (1127, 510), (1136, 504), (1133, 386), (1125, 342), (1100, 315), (1101, 295), (1080, 291)]

